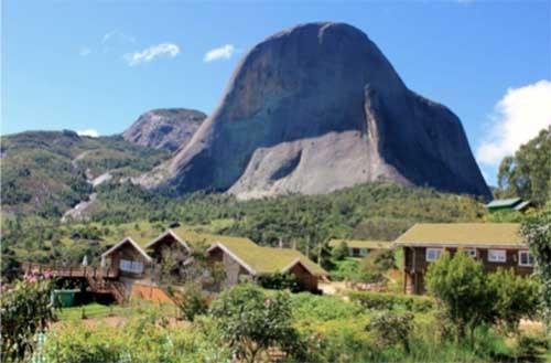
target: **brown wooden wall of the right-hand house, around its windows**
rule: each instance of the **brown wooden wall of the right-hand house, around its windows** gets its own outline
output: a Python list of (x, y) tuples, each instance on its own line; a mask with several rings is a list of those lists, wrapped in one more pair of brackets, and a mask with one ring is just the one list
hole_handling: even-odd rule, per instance
[[(429, 247), (432, 248), (432, 247)], [(437, 247), (434, 247), (437, 248)], [(457, 250), (456, 248), (445, 248), (452, 255)], [(505, 249), (507, 253), (507, 260), (505, 263), (488, 261), (488, 249)], [(519, 266), (519, 248), (476, 248), (477, 260), (483, 263), (484, 270), (491, 273), (498, 268), (512, 268), (516, 274), (526, 276), (533, 271), (532, 267)], [(431, 263), (426, 261), (426, 247), (403, 247), (403, 287), (407, 293), (424, 293), (424, 275)]]

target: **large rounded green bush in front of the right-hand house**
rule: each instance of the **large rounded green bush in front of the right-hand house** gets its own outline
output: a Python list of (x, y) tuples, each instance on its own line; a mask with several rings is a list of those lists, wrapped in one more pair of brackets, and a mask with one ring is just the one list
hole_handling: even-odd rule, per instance
[[(520, 318), (537, 313), (537, 285), (530, 278), (498, 270), (486, 276), (482, 263), (460, 250), (444, 253), (426, 271), (426, 287), (444, 305), (457, 339), (472, 340), (484, 324), (517, 330)], [(468, 308), (467, 308), (468, 307)]]

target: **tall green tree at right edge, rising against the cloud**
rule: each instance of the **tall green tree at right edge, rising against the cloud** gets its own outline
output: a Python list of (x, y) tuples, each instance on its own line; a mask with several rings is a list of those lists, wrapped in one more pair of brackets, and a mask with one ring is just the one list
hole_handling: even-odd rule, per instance
[(496, 197), (520, 196), (543, 205), (551, 196), (551, 127), (499, 166)]

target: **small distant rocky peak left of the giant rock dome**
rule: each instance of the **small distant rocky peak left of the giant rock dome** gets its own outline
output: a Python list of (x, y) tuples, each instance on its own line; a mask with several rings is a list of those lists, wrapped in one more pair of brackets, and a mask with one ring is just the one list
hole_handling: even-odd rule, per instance
[(175, 151), (191, 140), (205, 118), (193, 109), (153, 109), (141, 115), (122, 137), (137, 145)]

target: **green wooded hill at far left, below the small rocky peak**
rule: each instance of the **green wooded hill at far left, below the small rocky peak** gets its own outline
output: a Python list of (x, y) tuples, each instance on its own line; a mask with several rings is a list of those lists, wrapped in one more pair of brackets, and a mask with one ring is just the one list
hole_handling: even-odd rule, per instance
[(28, 131), (1, 138), (2, 212), (58, 218), (86, 200), (95, 178), (116, 180), (150, 170), (168, 152), (119, 136), (80, 137), (74, 131)]

